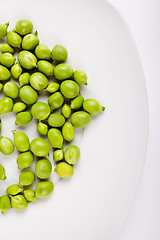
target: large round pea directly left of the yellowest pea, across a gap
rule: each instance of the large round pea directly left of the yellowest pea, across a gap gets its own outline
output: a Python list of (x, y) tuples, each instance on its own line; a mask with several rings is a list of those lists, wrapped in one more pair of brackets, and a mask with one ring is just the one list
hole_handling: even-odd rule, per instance
[(52, 164), (47, 159), (41, 159), (36, 163), (35, 173), (40, 179), (47, 179), (51, 175)]

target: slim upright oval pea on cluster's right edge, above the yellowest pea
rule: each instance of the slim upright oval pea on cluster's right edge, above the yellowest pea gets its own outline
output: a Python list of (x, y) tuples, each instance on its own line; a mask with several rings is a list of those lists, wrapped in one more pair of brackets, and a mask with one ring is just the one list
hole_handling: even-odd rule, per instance
[(75, 130), (73, 125), (70, 122), (66, 122), (62, 127), (62, 135), (63, 135), (63, 138), (68, 142), (73, 140), (75, 135)]

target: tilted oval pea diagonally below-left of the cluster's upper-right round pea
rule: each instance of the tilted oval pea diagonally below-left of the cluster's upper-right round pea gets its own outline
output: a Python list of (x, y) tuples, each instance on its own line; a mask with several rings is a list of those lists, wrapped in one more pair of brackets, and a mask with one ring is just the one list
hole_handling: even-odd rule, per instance
[(53, 76), (53, 65), (50, 62), (41, 60), (37, 63), (38, 70), (42, 72), (47, 77)]

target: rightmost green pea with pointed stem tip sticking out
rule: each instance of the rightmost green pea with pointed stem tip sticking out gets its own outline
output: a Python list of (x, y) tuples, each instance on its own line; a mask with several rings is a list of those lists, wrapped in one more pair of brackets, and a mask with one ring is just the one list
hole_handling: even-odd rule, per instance
[(86, 112), (92, 115), (97, 115), (105, 110), (105, 107), (103, 107), (96, 99), (92, 98), (88, 98), (83, 102), (83, 108)]

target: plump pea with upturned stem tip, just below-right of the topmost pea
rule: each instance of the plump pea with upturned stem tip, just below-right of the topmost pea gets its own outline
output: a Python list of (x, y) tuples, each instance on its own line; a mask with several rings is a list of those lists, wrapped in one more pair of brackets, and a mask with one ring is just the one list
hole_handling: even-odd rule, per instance
[(33, 51), (39, 44), (37, 31), (33, 34), (27, 34), (22, 40), (22, 48), (28, 51)]

